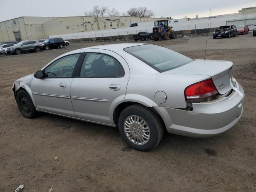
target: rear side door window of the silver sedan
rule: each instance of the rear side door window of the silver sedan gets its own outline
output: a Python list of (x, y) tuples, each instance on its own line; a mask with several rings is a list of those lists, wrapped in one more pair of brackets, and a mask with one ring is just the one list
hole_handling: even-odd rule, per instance
[(100, 53), (87, 53), (82, 64), (80, 77), (122, 77), (124, 69), (113, 57)]

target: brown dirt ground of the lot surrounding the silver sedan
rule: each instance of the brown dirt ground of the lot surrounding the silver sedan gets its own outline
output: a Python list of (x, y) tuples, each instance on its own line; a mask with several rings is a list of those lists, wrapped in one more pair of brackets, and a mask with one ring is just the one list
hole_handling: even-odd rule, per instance
[[(205, 36), (147, 41), (191, 58), (204, 58)], [(11, 96), (17, 78), (40, 70), (67, 49), (0, 56), (0, 191), (12, 192), (220, 192), (256, 191), (256, 38), (209, 36), (207, 59), (234, 62), (244, 114), (213, 138), (165, 134), (151, 152), (129, 148), (117, 128), (41, 113), (26, 119)], [(54, 160), (54, 156), (58, 156)]]

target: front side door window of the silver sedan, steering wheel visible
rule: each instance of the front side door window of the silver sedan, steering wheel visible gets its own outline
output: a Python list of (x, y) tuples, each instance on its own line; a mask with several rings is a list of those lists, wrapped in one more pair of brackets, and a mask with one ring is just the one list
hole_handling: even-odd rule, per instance
[(50, 64), (45, 70), (44, 75), (46, 78), (70, 78), (72, 77), (74, 67), (80, 56), (79, 54), (73, 54), (62, 57), (52, 64)]

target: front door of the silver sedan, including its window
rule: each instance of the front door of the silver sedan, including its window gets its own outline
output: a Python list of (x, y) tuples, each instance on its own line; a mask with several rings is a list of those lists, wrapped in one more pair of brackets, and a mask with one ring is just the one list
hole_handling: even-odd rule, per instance
[(59, 58), (43, 70), (44, 78), (32, 80), (31, 89), (38, 110), (75, 117), (70, 86), (80, 55), (78, 53)]

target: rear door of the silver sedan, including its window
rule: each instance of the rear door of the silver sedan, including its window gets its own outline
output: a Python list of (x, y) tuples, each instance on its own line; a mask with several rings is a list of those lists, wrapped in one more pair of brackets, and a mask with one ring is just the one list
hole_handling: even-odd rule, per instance
[(87, 49), (71, 85), (77, 118), (114, 125), (113, 110), (124, 101), (130, 70), (118, 54)]

